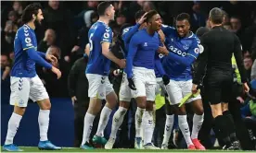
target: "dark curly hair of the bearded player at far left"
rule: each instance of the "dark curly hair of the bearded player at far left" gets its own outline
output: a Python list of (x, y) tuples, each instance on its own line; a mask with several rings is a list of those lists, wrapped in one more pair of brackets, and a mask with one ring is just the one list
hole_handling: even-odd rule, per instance
[(26, 8), (23, 10), (21, 21), (23, 23), (28, 23), (32, 20), (32, 15), (37, 15), (38, 10), (42, 9), (42, 6), (39, 3), (33, 3), (29, 6), (26, 6)]

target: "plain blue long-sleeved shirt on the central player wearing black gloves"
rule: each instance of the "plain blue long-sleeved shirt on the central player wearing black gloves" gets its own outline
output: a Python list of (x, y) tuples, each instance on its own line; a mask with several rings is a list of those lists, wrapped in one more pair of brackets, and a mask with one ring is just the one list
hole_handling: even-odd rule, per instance
[(155, 54), (160, 46), (160, 36), (158, 32), (150, 36), (147, 29), (141, 29), (134, 34), (129, 44), (127, 55), (126, 71), (127, 76), (132, 76), (132, 66), (155, 68)]

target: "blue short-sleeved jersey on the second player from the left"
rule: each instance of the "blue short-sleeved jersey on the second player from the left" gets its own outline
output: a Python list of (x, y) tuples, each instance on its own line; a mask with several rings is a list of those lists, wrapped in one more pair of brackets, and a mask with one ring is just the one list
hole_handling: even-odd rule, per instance
[[(102, 54), (102, 42), (112, 42), (112, 29), (101, 21), (97, 21), (88, 32), (90, 54), (86, 74), (108, 76), (110, 60)], [(110, 46), (109, 46), (110, 50)]]

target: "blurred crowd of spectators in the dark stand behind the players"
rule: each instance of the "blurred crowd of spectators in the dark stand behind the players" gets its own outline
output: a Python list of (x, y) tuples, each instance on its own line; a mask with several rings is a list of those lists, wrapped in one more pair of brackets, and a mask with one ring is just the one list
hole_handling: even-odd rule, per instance
[[(13, 41), (16, 31), (22, 26), (22, 10), (33, 3), (25, 1), (1, 1), (1, 94), (2, 102), (8, 103), (10, 70), (14, 60)], [(83, 57), (88, 43), (88, 30), (96, 22), (99, 1), (40, 1), (44, 7), (44, 21), (35, 29), (37, 50), (50, 53), (58, 58), (62, 77), (58, 80), (52, 72), (37, 67), (38, 76), (45, 84), (50, 97), (70, 97), (68, 76), (71, 66)], [(190, 15), (191, 30), (209, 27), (208, 13), (212, 7), (225, 12), (224, 27), (237, 34), (243, 47), (244, 65), (249, 81), (256, 78), (256, 3), (244, 1), (113, 1), (116, 10), (115, 21), (109, 23), (114, 32), (113, 46), (123, 24), (134, 25), (134, 14), (143, 9), (159, 11), (164, 24), (174, 25), (175, 17), (186, 12)], [(113, 50), (119, 50), (113, 47)], [(114, 82), (116, 79), (111, 79)], [(86, 91), (84, 91), (86, 92)], [(246, 105), (247, 106), (247, 105)], [(245, 115), (247, 117), (249, 114)], [(250, 113), (251, 115), (251, 113)]]

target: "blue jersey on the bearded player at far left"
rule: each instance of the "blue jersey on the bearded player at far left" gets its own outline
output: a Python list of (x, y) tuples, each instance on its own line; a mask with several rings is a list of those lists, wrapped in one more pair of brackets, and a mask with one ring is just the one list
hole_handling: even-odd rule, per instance
[(37, 50), (37, 41), (34, 30), (28, 25), (20, 27), (14, 40), (14, 65), (10, 76), (33, 77), (36, 76), (35, 62), (26, 52), (28, 49)]

